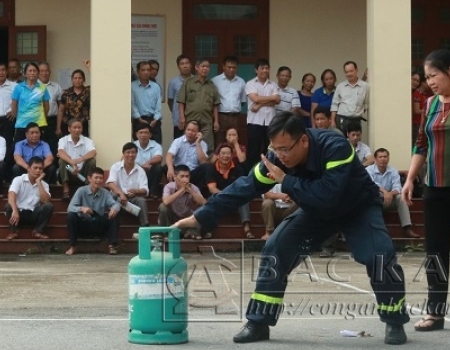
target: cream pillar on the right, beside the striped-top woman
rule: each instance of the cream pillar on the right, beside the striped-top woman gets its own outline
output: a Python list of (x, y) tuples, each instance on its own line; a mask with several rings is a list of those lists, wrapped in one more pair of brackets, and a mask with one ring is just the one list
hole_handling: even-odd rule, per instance
[(391, 165), (411, 158), (411, 1), (367, 0), (369, 144), (384, 147)]

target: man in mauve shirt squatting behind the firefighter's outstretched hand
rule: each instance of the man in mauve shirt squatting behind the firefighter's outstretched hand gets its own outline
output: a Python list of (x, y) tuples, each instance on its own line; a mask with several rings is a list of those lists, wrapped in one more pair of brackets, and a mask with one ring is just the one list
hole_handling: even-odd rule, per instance
[[(198, 187), (190, 183), (187, 165), (177, 165), (174, 171), (174, 180), (164, 186), (162, 203), (158, 208), (158, 224), (161, 226), (170, 226), (191, 216), (194, 209), (206, 202)], [(184, 238), (202, 238), (199, 225), (183, 229), (182, 233)]]

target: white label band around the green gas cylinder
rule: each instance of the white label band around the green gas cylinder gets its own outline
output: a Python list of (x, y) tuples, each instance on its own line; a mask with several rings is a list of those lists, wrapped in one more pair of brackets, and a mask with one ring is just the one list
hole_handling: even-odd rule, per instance
[(183, 279), (172, 275), (129, 275), (130, 299), (181, 299), (184, 297)]

